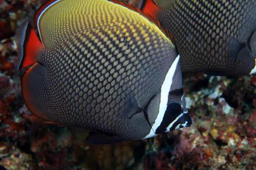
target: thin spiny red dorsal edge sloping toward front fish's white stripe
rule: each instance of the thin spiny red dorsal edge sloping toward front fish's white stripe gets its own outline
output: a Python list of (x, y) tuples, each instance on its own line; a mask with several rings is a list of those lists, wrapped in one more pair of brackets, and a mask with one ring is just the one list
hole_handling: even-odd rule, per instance
[(154, 23), (163, 32), (163, 34), (166, 35), (166, 37), (168, 37), (172, 41), (173, 45), (175, 46), (175, 48), (177, 50), (177, 45), (176, 45), (176, 42), (174, 40), (173, 35), (171, 33), (169, 33), (169, 31), (167, 29), (163, 28), (163, 26), (160, 24), (160, 22), (158, 20), (156, 20), (156, 17), (154, 18), (150, 14), (148, 14), (147, 12), (145, 13), (140, 8), (135, 8), (134, 6), (131, 6), (130, 4), (119, 2), (119, 1), (116, 1), (116, 0), (108, 0), (108, 1), (119, 4), (121, 6), (124, 6), (124, 7), (128, 8), (128, 9), (131, 9), (131, 10), (141, 14), (143, 17), (147, 18), (149, 21)]

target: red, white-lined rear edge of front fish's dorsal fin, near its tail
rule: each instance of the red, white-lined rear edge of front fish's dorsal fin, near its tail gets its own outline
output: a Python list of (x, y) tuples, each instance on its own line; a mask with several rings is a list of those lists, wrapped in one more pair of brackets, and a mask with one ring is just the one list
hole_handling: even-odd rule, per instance
[(42, 40), (42, 37), (41, 37), (41, 34), (40, 34), (40, 30), (38, 30), (38, 20), (40, 19), (40, 16), (41, 14), (47, 9), (49, 8), (51, 5), (53, 5), (54, 3), (56, 3), (57, 1), (60, 1), (60, 0), (48, 0), (46, 3), (44, 3), (43, 5), (41, 5), (38, 10), (35, 12), (34, 14), (34, 25), (35, 25), (35, 28), (36, 30), (38, 31), (38, 34), (40, 35), (40, 39), (41, 39), (41, 42), (43, 43), (44, 45), (44, 42)]

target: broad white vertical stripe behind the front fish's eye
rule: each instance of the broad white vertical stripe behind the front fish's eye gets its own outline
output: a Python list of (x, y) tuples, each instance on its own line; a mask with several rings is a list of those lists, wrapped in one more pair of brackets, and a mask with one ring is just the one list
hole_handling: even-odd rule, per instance
[(172, 78), (175, 74), (175, 70), (177, 68), (177, 64), (180, 60), (180, 55), (176, 57), (174, 62), (172, 63), (172, 66), (170, 67), (169, 71), (166, 74), (166, 77), (163, 81), (163, 85), (161, 87), (161, 98), (160, 98), (160, 105), (159, 105), (159, 112), (157, 115), (157, 119), (155, 120), (154, 124), (152, 125), (152, 129), (154, 132), (156, 132), (157, 127), (160, 126), (161, 122), (163, 121), (163, 116), (167, 108), (168, 103), (168, 96), (169, 91), (172, 86)]

